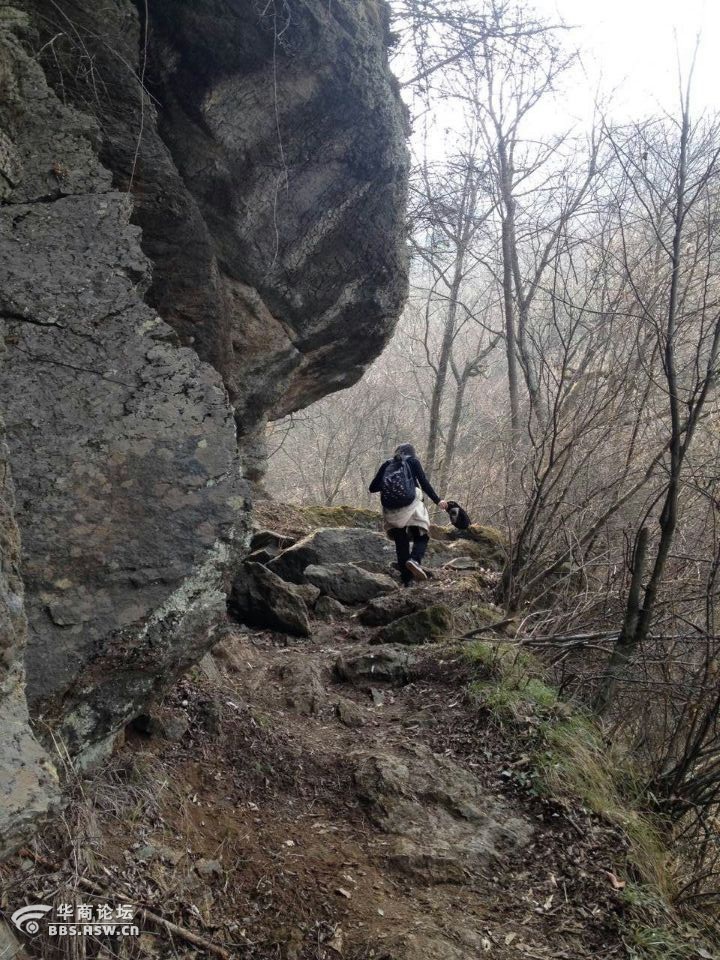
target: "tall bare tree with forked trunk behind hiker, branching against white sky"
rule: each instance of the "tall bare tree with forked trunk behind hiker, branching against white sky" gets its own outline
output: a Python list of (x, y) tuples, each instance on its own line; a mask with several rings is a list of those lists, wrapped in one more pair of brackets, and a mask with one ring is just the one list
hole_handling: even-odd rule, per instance
[[(493, 8), (498, 27), (504, 15), (504, 8)], [(500, 242), (492, 269), (502, 290), (510, 418), (517, 436), (521, 377), (531, 412), (546, 415), (530, 342), (531, 312), (560, 237), (582, 211), (597, 173), (599, 144), (594, 133), (586, 151), (569, 131), (540, 143), (526, 134), (533, 113), (552, 99), (576, 57), (565, 50), (557, 29), (536, 30), (535, 21), (516, 16), (520, 19), (514, 34), (491, 32), (478, 45), (466, 67), (466, 96), (481, 132), (499, 218)], [(578, 156), (583, 152), (581, 166)]]

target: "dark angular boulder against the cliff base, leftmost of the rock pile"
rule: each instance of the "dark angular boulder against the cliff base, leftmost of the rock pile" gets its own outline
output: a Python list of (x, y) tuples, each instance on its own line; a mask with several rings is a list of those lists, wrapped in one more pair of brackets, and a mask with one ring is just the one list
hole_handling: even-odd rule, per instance
[(305, 601), (260, 563), (243, 564), (233, 582), (228, 608), (240, 623), (250, 627), (300, 637), (310, 634)]

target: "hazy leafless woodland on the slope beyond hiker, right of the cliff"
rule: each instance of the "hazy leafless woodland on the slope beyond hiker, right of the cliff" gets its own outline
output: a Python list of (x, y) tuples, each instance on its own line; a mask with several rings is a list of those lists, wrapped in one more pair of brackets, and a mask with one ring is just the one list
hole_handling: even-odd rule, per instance
[[(268, 491), (370, 506), (412, 441), (441, 496), (508, 540), (498, 602), (631, 745), (718, 896), (720, 127), (613, 121), (576, 36), (526, 5), (395, 0), (413, 127), (411, 289), (355, 387), (272, 425)], [(589, 91), (592, 94), (593, 91)]]

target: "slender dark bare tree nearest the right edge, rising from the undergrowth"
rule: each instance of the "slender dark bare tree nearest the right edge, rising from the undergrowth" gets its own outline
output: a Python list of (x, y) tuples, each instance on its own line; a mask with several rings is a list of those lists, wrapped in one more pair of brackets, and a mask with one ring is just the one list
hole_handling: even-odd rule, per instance
[[(652, 231), (665, 281), (662, 299), (648, 302), (627, 264), (643, 324), (652, 331), (661, 357), (665, 409), (658, 409), (657, 417), (665, 428), (665, 480), (638, 526), (625, 618), (598, 691), (599, 709), (607, 707), (623, 667), (648, 637), (675, 538), (684, 464), (717, 379), (720, 290), (714, 271), (720, 249), (714, 201), (719, 135), (715, 123), (691, 122), (688, 91), (677, 122), (644, 124), (611, 138)], [(661, 506), (650, 558), (647, 525), (653, 522), (655, 503)]]

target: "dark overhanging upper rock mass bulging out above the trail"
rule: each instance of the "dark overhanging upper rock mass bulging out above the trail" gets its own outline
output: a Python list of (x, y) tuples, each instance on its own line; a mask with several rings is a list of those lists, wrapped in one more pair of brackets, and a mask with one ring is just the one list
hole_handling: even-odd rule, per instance
[[(56, 89), (135, 199), (149, 302), (220, 370), (246, 471), (267, 417), (349, 386), (406, 295), (403, 107), (382, 0), (32, 0)], [(88, 62), (90, 61), (90, 63)], [(146, 82), (140, 136), (140, 88)], [(58, 72), (58, 66), (61, 68)], [(257, 445), (257, 449), (256, 449)]]

